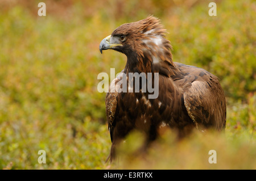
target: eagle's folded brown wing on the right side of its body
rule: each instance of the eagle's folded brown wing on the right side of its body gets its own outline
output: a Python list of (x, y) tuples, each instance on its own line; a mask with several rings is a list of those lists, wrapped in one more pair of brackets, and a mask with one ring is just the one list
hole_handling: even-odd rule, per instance
[(184, 105), (197, 129), (225, 128), (226, 100), (218, 78), (195, 66), (175, 62), (182, 78), (174, 76), (176, 85), (183, 89)]

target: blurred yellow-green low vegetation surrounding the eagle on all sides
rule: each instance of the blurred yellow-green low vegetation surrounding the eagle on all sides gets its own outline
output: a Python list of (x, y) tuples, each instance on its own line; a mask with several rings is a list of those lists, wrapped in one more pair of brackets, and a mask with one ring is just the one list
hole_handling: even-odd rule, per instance
[[(214, 1), (0, 1), (0, 169), (256, 169), (256, 3)], [(100, 41), (119, 25), (158, 16), (174, 60), (220, 78), (228, 100), (225, 136), (163, 134), (146, 155), (138, 133), (123, 162), (105, 163), (110, 137), (100, 72), (116, 73), (126, 57), (100, 54)], [(130, 141), (129, 141), (130, 140)], [(136, 142), (134, 143), (134, 140)], [(46, 150), (46, 164), (38, 151)], [(217, 151), (217, 164), (208, 151)], [(136, 152), (137, 153), (137, 152)]]

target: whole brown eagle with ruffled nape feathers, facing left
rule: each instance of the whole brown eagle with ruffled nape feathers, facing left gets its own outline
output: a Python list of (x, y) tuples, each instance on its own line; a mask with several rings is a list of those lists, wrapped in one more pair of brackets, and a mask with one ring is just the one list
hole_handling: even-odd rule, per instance
[[(159, 73), (159, 95), (155, 99), (148, 99), (151, 92), (143, 92), (141, 84), (139, 92), (118, 92), (120, 87), (115, 83), (123, 74), (111, 83), (110, 88), (116, 91), (106, 94), (110, 161), (115, 157), (115, 146), (133, 129), (146, 134), (146, 145), (155, 140), (161, 127), (176, 129), (179, 137), (193, 128), (202, 132), (207, 128), (225, 129), (226, 100), (218, 78), (204, 69), (173, 62), (165, 33), (159, 19), (148, 16), (119, 26), (101, 41), (101, 53), (114, 49), (126, 54), (122, 72), (127, 79), (129, 73)], [(153, 76), (152, 82), (155, 80)]]

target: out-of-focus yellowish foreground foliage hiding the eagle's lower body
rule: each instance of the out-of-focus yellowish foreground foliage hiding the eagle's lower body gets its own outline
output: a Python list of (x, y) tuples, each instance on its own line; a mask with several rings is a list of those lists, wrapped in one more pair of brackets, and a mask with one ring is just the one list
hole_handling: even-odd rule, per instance
[[(195, 132), (184, 140), (176, 140), (176, 133), (165, 132), (147, 152), (123, 151), (119, 169), (256, 169), (255, 136), (243, 133), (238, 138), (213, 132)], [(249, 141), (250, 140), (250, 141)], [(131, 145), (137, 140), (126, 141)], [(210, 150), (216, 151), (217, 163), (209, 163)], [(134, 156), (135, 155), (135, 156)]]

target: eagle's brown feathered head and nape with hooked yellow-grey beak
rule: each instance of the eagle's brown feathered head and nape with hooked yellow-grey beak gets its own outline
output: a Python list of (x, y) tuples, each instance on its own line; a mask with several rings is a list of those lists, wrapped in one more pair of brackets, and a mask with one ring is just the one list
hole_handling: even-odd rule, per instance
[(148, 16), (146, 19), (125, 23), (116, 28), (101, 41), (100, 52), (113, 49), (126, 54), (126, 67), (136, 67), (136, 70), (141, 72), (159, 71), (160, 64), (175, 66), (172, 62), (172, 47), (165, 34), (166, 30), (160, 20)]

